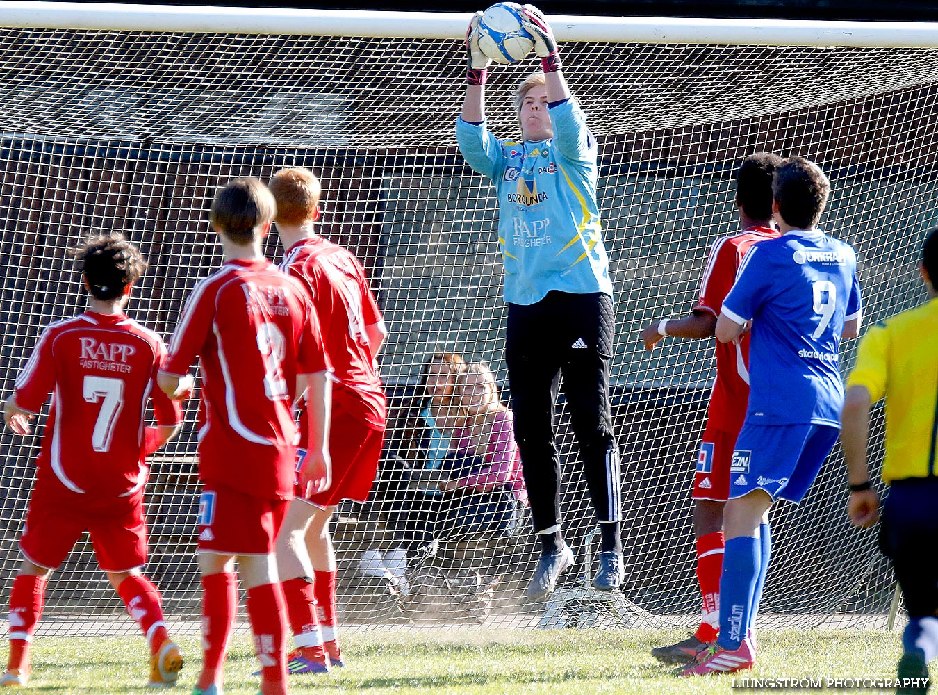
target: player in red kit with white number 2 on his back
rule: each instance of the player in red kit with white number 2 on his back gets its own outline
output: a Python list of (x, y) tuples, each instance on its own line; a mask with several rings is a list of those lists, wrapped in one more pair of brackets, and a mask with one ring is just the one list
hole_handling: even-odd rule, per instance
[(202, 358), (204, 664), (197, 695), (220, 692), (237, 610), (235, 560), (248, 590), (261, 691), (287, 692), (286, 624), (273, 552), (294, 491), (298, 388), (307, 389), (311, 423), (301, 487), (318, 493), (329, 485), (329, 365), (306, 292), (261, 252), (274, 211), (273, 196), (257, 179), (236, 179), (219, 190), (211, 223), (225, 262), (196, 284), (159, 371), (159, 386), (175, 398), (196, 356)]

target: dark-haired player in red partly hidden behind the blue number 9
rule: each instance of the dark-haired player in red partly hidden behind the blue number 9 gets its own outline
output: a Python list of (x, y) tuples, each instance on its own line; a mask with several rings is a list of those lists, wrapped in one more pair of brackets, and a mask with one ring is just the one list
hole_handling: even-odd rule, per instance
[[(736, 211), (740, 232), (718, 239), (701, 280), (700, 297), (689, 316), (662, 319), (645, 326), (642, 340), (651, 350), (667, 336), (703, 340), (712, 338), (723, 298), (730, 292), (736, 270), (753, 244), (779, 235), (772, 221), (772, 175), (782, 160), (760, 152), (743, 159), (736, 173)], [(749, 339), (739, 343), (717, 341), (717, 379), (710, 394), (694, 487), (694, 536), (697, 580), (703, 596), (703, 619), (687, 640), (652, 650), (670, 663), (686, 663), (707, 642), (717, 639), (719, 627), (719, 578), (723, 565), (723, 506), (730, 491), (730, 461), (736, 436), (743, 426), (749, 403)], [(763, 538), (768, 540), (768, 523)], [(762, 591), (762, 586), (756, 587)]]

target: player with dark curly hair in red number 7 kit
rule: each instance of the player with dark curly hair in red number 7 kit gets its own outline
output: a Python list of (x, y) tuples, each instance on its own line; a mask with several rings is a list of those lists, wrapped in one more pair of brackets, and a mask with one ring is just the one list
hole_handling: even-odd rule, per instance
[[(163, 341), (124, 313), (146, 268), (140, 251), (108, 234), (77, 249), (77, 257), (88, 310), (46, 326), (4, 408), (8, 428), (28, 434), (53, 394), (20, 538), (23, 564), (9, 597), (9, 662), (0, 686), (26, 685), (46, 581), (85, 530), (98, 567), (149, 643), (150, 685), (172, 685), (182, 656), (163, 625), (159, 590), (140, 568), (144, 457), (174, 436), (181, 410), (155, 388)], [(144, 427), (148, 401), (156, 427)]]

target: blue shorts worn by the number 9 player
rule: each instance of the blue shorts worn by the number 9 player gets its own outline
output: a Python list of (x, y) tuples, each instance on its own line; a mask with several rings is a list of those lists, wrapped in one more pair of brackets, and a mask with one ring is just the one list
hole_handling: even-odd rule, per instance
[(753, 490), (801, 502), (840, 430), (829, 425), (750, 425), (739, 432), (730, 462), (730, 499)]

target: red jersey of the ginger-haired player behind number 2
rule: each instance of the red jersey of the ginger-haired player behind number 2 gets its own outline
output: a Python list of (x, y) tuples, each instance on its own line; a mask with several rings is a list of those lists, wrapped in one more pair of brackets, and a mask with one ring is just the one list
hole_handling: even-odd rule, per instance
[(364, 268), (351, 251), (322, 236), (296, 242), (284, 254), (280, 268), (310, 292), (325, 352), (335, 368), (332, 399), (337, 407), (384, 429), (385, 392), (365, 330), (382, 317)]

